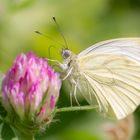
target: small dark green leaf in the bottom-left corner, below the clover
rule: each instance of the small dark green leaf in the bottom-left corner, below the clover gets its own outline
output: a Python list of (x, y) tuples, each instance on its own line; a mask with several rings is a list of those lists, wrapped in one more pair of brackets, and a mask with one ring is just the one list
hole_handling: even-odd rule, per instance
[(2, 127), (1, 137), (3, 140), (11, 140), (15, 137), (15, 134), (8, 124), (4, 124)]

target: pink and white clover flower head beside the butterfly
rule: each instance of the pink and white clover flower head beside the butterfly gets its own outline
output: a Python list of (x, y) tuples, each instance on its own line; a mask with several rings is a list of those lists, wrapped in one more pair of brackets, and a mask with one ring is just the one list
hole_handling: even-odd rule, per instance
[(14, 122), (40, 127), (52, 120), (60, 87), (59, 74), (45, 58), (20, 54), (3, 78), (2, 105), (12, 123), (14, 118)]

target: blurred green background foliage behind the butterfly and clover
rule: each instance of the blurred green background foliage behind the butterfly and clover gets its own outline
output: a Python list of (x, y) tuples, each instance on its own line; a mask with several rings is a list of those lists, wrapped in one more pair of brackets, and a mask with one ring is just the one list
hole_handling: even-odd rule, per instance
[[(63, 43), (55, 16), (69, 48), (78, 53), (111, 38), (140, 36), (140, 0), (0, 0), (0, 70), (5, 72), (16, 55), (32, 51), (50, 57), (48, 48), (59, 44), (34, 33), (39, 30)], [(51, 58), (62, 60), (57, 49)], [(62, 87), (58, 106), (69, 106)], [(110, 122), (95, 111), (60, 113), (38, 140), (111, 140), (104, 131)], [(135, 112), (135, 133), (140, 140), (140, 108)]]

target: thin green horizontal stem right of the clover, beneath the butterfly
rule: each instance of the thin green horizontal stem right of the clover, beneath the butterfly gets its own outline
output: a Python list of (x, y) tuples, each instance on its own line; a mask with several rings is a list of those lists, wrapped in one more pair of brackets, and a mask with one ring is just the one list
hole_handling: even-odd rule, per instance
[(63, 107), (57, 108), (57, 112), (69, 112), (69, 111), (86, 111), (86, 110), (93, 110), (98, 108), (98, 106), (72, 106), (72, 107)]

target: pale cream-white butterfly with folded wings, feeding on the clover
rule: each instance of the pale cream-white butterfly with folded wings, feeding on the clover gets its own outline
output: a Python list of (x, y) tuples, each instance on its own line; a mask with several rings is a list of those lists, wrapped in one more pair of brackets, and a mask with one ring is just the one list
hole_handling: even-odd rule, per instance
[[(95, 44), (75, 55), (62, 50), (61, 68), (91, 105), (122, 119), (140, 104), (140, 38), (120, 38)], [(78, 101), (77, 101), (78, 102)]]

